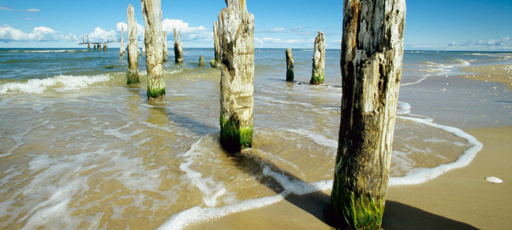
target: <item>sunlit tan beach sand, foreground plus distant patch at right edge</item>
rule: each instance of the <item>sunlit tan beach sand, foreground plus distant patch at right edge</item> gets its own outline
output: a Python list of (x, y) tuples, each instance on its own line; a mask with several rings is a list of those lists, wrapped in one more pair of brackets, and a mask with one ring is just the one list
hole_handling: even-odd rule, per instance
[[(459, 77), (512, 83), (511, 65), (462, 68), (482, 73)], [(509, 114), (504, 114), (509, 116)], [(483, 144), (473, 162), (419, 185), (388, 188), (382, 228), (508, 229), (512, 216), (512, 127), (464, 130)], [(485, 177), (495, 176), (502, 183)], [(263, 208), (232, 213), (185, 229), (332, 229), (330, 192), (289, 196)]]

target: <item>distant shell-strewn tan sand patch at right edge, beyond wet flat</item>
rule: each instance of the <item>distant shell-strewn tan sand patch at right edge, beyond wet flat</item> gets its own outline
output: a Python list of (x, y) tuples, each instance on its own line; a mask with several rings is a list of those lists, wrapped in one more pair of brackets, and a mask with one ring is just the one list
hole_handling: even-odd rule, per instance
[(510, 64), (464, 67), (460, 68), (459, 70), (468, 73), (481, 73), (459, 75), (461, 78), (477, 81), (498, 82), (507, 85), (507, 89), (512, 90), (512, 65)]

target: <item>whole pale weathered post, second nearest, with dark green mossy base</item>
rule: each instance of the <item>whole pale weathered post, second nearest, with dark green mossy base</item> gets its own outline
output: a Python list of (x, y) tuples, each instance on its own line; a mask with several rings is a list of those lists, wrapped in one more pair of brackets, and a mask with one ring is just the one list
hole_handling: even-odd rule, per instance
[(221, 56), (220, 143), (230, 152), (252, 145), (254, 16), (245, 0), (227, 0), (219, 13)]

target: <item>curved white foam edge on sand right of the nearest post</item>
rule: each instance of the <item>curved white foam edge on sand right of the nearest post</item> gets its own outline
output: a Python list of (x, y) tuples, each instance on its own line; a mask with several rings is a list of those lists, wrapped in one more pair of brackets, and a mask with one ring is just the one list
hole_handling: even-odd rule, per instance
[[(413, 115), (414, 116), (414, 115)], [(455, 162), (449, 163), (449, 164), (442, 164), (434, 168), (423, 168), (419, 171), (408, 173), (405, 176), (402, 177), (390, 177), (389, 178), (389, 186), (398, 186), (398, 185), (417, 185), (419, 183), (423, 183), (425, 181), (428, 181), (430, 179), (436, 178), (439, 175), (450, 171), (452, 169), (462, 168), (467, 165), (469, 165), (472, 160), (475, 158), (477, 153), (482, 150), (483, 144), (480, 143), (474, 136), (467, 134), (466, 132), (462, 131), (459, 128), (446, 126), (446, 125), (439, 125), (433, 123), (432, 119), (420, 119), (420, 118), (410, 118), (410, 117), (403, 117), (403, 116), (396, 116), (397, 118), (414, 121), (417, 123), (421, 123), (424, 125), (432, 126), (435, 128), (439, 128), (441, 130), (444, 130), (446, 132), (451, 132), (454, 135), (458, 137), (462, 137), (463, 139), (466, 139), (466, 141), (472, 145), (472, 147), (466, 149), (462, 155), (455, 160)]]

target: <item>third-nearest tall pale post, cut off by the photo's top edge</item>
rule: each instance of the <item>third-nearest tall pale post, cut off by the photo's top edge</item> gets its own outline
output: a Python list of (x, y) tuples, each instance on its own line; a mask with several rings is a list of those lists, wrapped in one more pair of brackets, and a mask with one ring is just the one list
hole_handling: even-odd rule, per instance
[(162, 64), (162, 11), (160, 0), (141, 0), (144, 17), (147, 69), (147, 100), (163, 101), (165, 83)]

